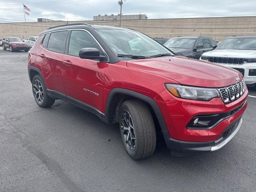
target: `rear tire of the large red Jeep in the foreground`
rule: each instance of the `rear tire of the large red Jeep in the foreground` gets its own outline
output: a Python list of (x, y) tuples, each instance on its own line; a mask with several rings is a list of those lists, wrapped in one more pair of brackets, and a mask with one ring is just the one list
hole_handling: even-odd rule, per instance
[[(35, 83), (38, 83), (40, 82), (40, 86), (38, 86), (38, 84), (36, 86), (34, 86)], [(43, 96), (41, 94), (41, 97), (38, 96), (38, 94), (36, 94), (36, 92), (38, 91), (37, 90), (37, 87), (39, 87), (40, 89), (40, 92), (43, 91)], [(34, 99), (36, 100), (36, 103), (42, 107), (42, 108), (45, 108), (45, 107), (50, 107), (54, 104), (55, 100), (50, 98), (47, 94), (46, 94), (46, 86), (44, 84), (44, 80), (39, 76), (39, 75), (36, 75), (34, 76), (33, 80), (32, 80), (32, 92), (33, 92), (33, 95), (34, 95)], [(40, 99), (38, 99), (37, 97), (39, 97)]]

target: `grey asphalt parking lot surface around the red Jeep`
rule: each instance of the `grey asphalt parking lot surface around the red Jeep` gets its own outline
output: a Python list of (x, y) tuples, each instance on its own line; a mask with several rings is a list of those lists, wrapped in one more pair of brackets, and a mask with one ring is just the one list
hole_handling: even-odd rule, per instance
[(256, 90), (221, 150), (174, 157), (158, 142), (152, 157), (134, 161), (118, 125), (60, 100), (40, 108), (27, 60), (28, 53), (0, 48), (1, 192), (256, 191)]

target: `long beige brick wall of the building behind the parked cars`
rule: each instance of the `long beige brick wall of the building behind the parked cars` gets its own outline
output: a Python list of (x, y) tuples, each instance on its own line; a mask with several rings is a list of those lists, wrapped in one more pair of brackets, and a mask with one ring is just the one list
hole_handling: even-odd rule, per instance
[[(119, 26), (119, 21), (76, 21), (82, 23)], [(28, 38), (38, 36), (40, 32), (51, 26), (67, 24), (67, 22), (27, 22), (0, 23), (0, 38), (17, 36)], [(176, 36), (209, 36), (222, 40), (232, 35), (256, 35), (256, 16), (222, 17), (222, 18), (181, 18), (181, 19), (147, 19), (123, 20), (122, 27), (132, 28), (151, 37), (172, 38)]]

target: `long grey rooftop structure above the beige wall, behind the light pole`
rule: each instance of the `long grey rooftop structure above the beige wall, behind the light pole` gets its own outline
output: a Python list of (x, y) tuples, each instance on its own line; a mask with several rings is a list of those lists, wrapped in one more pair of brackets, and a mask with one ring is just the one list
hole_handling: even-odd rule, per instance
[[(148, 17), (145, 14), (138, 14), (138, 15), (123, 15), (122, 14), (122, 20), (139, 20), (139, 19), (147, 19)], [(102, 20), (120, 20), (120, 14), (118, 15), (98, 15), (93, 16), (94, 21), (102, 21)]]

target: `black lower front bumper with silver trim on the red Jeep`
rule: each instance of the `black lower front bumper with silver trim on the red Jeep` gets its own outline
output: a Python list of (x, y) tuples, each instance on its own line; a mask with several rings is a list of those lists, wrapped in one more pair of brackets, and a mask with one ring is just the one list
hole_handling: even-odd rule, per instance
[[(186, 142), (172, 139), (168, 132), (163, 131), (165, 142), (170, 150), (177, 152), (212, 152), (224, 147), (237, 134), (242, 125), (242, 118), (238, 118), (235, 122), (230, 124), (224, 132), (229, 132), (228, 136), (221, 137), (216, 141), (210, 142)], [(231, 130), (232, 129), (232, 130)], [(231, 130), (231, 131), (230, 131)]]

